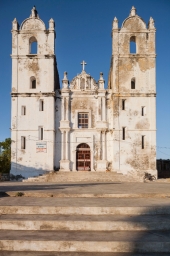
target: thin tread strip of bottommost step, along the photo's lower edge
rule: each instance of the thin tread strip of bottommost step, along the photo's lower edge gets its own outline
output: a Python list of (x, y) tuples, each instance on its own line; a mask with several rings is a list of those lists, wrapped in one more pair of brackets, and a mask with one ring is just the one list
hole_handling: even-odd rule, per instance
[(137, 253), (137, 252), (10, 252), (1, 251), (1, 256), (169, 256), (169, 253), (153, 252), (153, 253)]

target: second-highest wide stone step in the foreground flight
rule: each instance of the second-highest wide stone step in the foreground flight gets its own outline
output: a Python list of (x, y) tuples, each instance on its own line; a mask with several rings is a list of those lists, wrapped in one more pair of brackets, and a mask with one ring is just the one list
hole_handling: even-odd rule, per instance
[[(157, 225), (159, 223), (159, 225)], [(0, 230), (170, 230), (170, 215), (1, 215)]]

